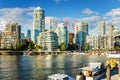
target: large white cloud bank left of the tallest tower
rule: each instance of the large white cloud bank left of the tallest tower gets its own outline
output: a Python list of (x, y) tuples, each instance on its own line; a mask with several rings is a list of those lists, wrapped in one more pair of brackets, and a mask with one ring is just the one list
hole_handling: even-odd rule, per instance
[(34, 7), (28, 8), (1, 8), (0, 20), (4, 27), (6, 22), (17, 22), (22, 26), (24, 32), (32, 27), (32, 14)]

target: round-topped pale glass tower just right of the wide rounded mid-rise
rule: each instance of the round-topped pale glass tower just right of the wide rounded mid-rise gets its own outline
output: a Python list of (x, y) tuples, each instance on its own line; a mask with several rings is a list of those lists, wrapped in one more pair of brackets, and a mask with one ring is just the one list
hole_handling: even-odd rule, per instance
[(58, 36), (58, 45), (65, 43), (68, 46), (68, 31), (67, 26), (64, 23), (60, 23), (56, 28), (56, 33)]

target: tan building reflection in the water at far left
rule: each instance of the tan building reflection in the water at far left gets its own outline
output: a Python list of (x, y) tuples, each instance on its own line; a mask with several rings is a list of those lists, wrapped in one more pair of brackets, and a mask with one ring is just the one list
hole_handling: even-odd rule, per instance
[(19, 80), (16, 56), (0, 56), (0, 80)]

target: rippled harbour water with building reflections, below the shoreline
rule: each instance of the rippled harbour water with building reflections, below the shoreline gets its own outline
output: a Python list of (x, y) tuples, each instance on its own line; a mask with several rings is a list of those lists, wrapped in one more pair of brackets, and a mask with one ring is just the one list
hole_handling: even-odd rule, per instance
[(105, 56), (80, 55), (0, 55), (0, 80), (47, 80), (47, 76), (65, 73), (72, 77), (90, 61), (105, 62)]

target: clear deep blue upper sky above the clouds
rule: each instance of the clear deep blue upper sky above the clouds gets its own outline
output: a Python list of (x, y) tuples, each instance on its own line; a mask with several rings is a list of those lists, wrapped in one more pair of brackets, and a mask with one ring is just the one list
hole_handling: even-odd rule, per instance
[[(119, 0), (0, 0), (0, 8), (28, 8), (42, 7), (46, 16), (63, 17), (65, 16), (78, 17), (84, 8), (90, 8), (104, 14), (111, 9), (120, 6)], [(56, 12), (58, 14), (56, 14)]]

